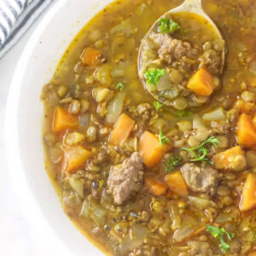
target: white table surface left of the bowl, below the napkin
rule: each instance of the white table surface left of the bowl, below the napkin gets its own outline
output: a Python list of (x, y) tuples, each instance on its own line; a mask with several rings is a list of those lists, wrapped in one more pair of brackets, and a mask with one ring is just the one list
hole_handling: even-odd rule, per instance
[[(67, 251), (55, 233), (49, 233), (47, 229), (39, 229), (32, 219), (28, 219), (26, 211), (21, 211), (19, 201), (11, 187), (3, 145), (3, 119), (9, 84), (28, 38), (44, 15), (45, 12), (19, 43), (0, 59), (0, 255), (3, 256), (73, 255)], [(44, 223), (45, 219), (42, 219), (42, 222)]]

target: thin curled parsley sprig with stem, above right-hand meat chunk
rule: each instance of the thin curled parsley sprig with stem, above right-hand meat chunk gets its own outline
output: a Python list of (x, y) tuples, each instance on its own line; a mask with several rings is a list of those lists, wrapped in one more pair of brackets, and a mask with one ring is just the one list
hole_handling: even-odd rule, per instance
[(207, 154), (208, 149), (205, 147), (207, 143), (211, 143), (212, 145), (218, 147), (218, 139), (216, 137), (209, 137), (206, 141), (201, 143), (198, 147), (195, 148), (183, 148), (183, 150), (193, 154), (193, 159), (190, 159), (190, 161), (203, 161), (208, 162), (210, 164), (213, 164), (212, 160), (208, 160)]

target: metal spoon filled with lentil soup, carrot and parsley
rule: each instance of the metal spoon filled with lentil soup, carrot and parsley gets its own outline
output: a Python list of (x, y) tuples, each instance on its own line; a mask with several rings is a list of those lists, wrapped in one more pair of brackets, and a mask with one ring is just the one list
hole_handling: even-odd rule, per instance
[(220, 85), (224, 51), (224, 40), (203, 12), (201, 0), (187, 0), (162, 15), (143, 38), (139, 76), (145, 89), (166, 106), (201, 107)]

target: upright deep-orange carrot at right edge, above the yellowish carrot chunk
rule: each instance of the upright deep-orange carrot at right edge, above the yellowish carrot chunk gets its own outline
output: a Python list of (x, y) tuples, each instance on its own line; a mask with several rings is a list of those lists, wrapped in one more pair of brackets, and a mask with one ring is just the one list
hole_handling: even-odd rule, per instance
[(256, 145), (256, 128), (250, 115), (241, 113), (238, 119), (237, 142), (245, 147)]

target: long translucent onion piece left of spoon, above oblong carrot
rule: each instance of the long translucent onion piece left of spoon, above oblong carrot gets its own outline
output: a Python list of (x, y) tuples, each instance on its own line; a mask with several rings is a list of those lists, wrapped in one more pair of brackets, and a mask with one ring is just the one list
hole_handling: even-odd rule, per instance
[(124, 108), (125, 103), (125, 91), (120, 91), (114, 98), (113, 101), (108, 103), (108, 113), (106, 120), (108, 123), (115, 123), (119, 119), (119, 115)]

